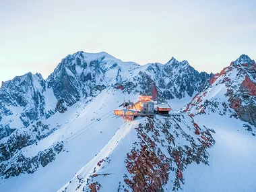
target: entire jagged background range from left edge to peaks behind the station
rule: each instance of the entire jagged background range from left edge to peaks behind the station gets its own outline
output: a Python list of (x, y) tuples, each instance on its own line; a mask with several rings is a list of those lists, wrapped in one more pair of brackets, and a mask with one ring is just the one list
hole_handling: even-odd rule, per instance
[[(181, 73), (183, 69), (186, 71)], [(199, 91), (202, 82), (207, 86), (208, 79), (207, 73), (198, 73), (187, 61), (174, 58), (166, 65), (141, 67), (107, 53), (84, 52), (65, 57), (46, 80), (40, 73), (15, 77), (0, 88), (0, 166), (18, 161), (16, 154), (22, 148), (57, 130), (56, 126), (48, 126), (32, 131), (38, 123), (44, 124), (55, 113), (65, 113), (77, 101), (93, 98), (106, 88), (121, 88), (129, 94), (152, 94), (154, 88), (158, 98), (165, 100), (182, 98), (185, 92), (191, 96)], [(2, 176), (7, 177), (6, 171), (3, 168)]]

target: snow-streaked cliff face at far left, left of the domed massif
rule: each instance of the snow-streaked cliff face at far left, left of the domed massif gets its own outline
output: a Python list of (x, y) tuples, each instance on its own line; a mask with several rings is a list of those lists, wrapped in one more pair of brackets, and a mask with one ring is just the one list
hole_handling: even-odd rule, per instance
[(0, 139), (45, 117), (45, 91), (46, 82), (40, 73), (26, 73), (3, 84), (0, 89)]

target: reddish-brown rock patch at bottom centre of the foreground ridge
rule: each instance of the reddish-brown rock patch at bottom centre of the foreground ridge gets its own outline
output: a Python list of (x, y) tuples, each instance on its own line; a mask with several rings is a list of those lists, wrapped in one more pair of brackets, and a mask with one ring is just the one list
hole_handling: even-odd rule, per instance
[[(141, 128), (138, 131), (141, 132)], [(139, 150), (133, 150), (127, 154), (127, 170), (134, 175), (132, 179), (125, 179), (125, 183), (133, 191), (163, 191), (162, 187), (168, 182), (170, 171), (170, 158), (156, 152), (156, 144), (148, 135), (140, 133), (143, 139)], [(142, 139), (142, 138), (141, 138)], [(133, 148), (136, 148), (136, 144)]]

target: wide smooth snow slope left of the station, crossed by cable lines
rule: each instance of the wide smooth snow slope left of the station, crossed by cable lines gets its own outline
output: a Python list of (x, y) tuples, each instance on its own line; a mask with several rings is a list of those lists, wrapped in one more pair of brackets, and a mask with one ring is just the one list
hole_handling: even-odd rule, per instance
[(47, 166), (40, 166), (33, 174), (20, 174), (18, 177), (1, 180), (1, 191), (50, 192), (65, 185), (79, 168), (104, 148), (123, 124), (122, 119), (113, 115), (113, 109), (123, 102), (123, 96), (116, 99), (119, 94), (121, 90), (106, 91), (87, 104), (79, 102), (66, 113), (47, 119), (47, 124), (59, 125), (59, 129), (36, 144), (22, 149), (22, 154), (26, 157), (34, 156), (58, 141), (63, 141), (64, 152), (58, 154)]

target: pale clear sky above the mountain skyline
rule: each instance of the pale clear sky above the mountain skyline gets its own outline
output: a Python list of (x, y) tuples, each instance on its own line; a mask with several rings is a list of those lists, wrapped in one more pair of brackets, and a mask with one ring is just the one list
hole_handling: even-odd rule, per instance
[(0, 0), (0, 81), (46, 78), (68, 54), (105, 51), (122, 61), (187, 60), (218, 72), (256, 59), (255, 0)]

